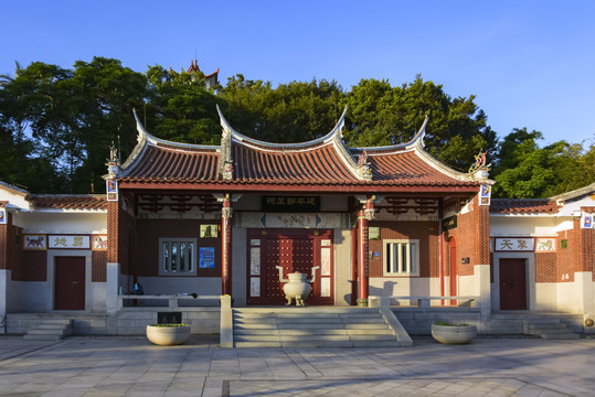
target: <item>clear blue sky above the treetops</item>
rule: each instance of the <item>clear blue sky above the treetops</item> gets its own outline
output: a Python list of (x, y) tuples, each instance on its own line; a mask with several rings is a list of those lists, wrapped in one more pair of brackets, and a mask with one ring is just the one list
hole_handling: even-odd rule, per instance
[(115, 57), (135, 71), (185, 68), (224, 84), (425, 81), (477, 95), (499, 137), (512, 128), (595, 143), (595, 1), (10, 1), (0, 74), (41, 61)]

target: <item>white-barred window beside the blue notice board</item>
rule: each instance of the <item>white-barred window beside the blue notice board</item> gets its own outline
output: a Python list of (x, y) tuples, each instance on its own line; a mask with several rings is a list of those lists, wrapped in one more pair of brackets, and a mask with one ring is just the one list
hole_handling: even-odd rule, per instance
[(196, 275), (195, 238), (159, 239), (159, 276)]

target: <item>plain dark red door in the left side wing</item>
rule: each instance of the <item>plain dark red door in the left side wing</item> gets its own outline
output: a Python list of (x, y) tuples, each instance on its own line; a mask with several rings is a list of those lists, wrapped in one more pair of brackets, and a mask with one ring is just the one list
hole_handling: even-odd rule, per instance
[(56, 257), (54, 309), (85, 310), (85, 258)]

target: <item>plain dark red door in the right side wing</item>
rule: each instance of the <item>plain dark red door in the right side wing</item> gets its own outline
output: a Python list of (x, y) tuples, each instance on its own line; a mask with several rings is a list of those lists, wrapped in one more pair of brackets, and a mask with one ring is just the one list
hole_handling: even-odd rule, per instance
[(524, 259), (500, 259), (500, 310), (527, 310)]

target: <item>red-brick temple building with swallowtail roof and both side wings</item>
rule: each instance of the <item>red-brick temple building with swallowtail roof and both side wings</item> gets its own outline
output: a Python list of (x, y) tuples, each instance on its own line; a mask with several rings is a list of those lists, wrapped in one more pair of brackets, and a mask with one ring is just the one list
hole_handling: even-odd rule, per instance
[(411, 307), (468, 309), (482, 333), (500, 332), (507, 312), (593, 319), (595, 184), (495, 200), (485, 161), (460, 173), (424, 150), (427, 118), (410, 142), (349, 148), (346, 112), (326, 136), (286, 144), (235, 131), (221, 111), (220, 146), (166, 141), (137, 118), (138, 143), (121, 164), (113, 152), (105, 196), (0, 184), (0, 315), (10, 329), (18, 313), (72, 311), (100, 319), (88, 333), (134, 333), (151, 316), (134, 328), (119, 313), (142, 288), (211, 298), (214, 320), (196, 332), (219, 332), (216, 297), (281, 308), (280, 280), (300, 272), (310, 307), (380, 299), (413, 334), (427, 326)]

